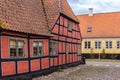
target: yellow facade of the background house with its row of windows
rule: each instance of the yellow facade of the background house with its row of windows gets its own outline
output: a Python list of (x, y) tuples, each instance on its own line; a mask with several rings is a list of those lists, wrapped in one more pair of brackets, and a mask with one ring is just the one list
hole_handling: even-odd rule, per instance
[[(90, 42), (90, 48), (85, 48), (85, 42)], [(95, 42), (101, 42), (96, 48)], [(107, 44), (111, 42), (111, 45)], [(97, 45), (98, 46), (98, 45)], [(108, 48), (110, 46), (110, 48)], [(120, 38), (90, 38), (82, 39), (82, 54), (120, 54)]]

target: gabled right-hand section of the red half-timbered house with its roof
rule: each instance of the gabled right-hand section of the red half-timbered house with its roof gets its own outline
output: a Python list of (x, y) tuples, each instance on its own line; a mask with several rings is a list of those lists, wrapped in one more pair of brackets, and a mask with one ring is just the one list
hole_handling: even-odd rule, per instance
[(48, 25), (53, 35), (50, 38), (50, 55), (56, 56), (50, 59), (50, 65), (63, 65), (80, 61), (79, 21), (67, 0), (43, 0), (43, 2)]

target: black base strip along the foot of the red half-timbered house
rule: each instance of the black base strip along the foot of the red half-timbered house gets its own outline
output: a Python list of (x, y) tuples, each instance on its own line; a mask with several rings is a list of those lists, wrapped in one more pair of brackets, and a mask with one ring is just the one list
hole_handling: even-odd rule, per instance
[(53, 66), (53, 67), (42, 69), (42, 70), (38, 70), (38, 71), (31, 71), (31, 72), (20, 73), (20, 74), (15, 74), (15, 75), (2, 76), (2, 77), (0, 77), (0, 80), (6, 80), (6, 79), (7, 80), (8, 79), (14, 80), (16, 78), (20, 78), (21, 76), (22, 76), (22, 79), (24, 77), (26, 77), (26, 76), (28, 76), (30, 78), (34, 78), (34, 77), (38, 77), (38, 76), (41, 76), (41, 75), (47, 75), (49, 73), (52, 73), (52, 72), (56, 71), (59, 67), (64, 69), (66, 67), (74, 67), (74, 66), (77, 66), (79, 64), (84, 64), (84, 63), (82, 61), (76, 61), (76, 62), (72, 62), (72, 63), (67, 63), (67, 64), (58, 65), (58, 66)]

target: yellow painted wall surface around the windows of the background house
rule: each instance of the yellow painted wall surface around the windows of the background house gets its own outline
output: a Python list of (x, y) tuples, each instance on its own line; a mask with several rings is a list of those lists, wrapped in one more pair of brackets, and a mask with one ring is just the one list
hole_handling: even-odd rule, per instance
[[(82, 54), (91, 53), (91, 49), (85, 49), (85, 41), (91, 41), (91, 48), (93, 48), (93, 53), (102, 53), (105, 49), (106, 54), (120, 54), (120, 49), (117, 49), (117, 41), (120, 41), (120, 38), (92, 38), (92, 39), (82, 39)], [(95, 41), (101, 41), (101, 49), (95, 49)], [(106, 49), (106, 41), (112, 41), (112, 48)]]

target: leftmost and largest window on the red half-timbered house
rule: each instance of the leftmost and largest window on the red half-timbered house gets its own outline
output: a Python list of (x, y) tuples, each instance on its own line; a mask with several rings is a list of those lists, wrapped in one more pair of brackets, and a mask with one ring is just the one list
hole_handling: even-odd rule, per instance
[(10, 57), (24, 56), (24, 41), (10, 40)]

